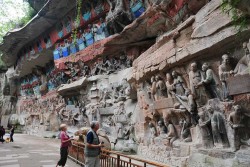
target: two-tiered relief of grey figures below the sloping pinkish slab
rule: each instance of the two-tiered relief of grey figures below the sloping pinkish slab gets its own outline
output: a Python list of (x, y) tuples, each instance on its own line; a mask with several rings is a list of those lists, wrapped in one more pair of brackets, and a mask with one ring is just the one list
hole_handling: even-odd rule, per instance
[[(230, 64), (231, 56), (225, 54), (221, 63), (217, 59), (216, 65), (211, 61), (191, 63), (186, 67), (190, 70), (187, 77), (180, 74), (178, 68), (168, 69), (165, 78), (160, 80), (155, 73), (147, 76), (138, 88), (144, 92), (138, 96), (138, 103), (145, 113), (147, 142), (139, 142), (138, 153), (157, 160), (157, 155), (175, 154), (175, 149), (189, 144), (190, 148), (199, 144), (197, 147), (201, 150), (248, 149), (249, 105), (241, 103), (241, 96), (233, 101), (235, 96), (230, 95), (228, 88), (233, 77), (249, 77), (248, 45), (243, 44), (244, 55), (235, 68)], [(162, 80), (165, 86), (161, 86)], [(249, 92), (246, 90), (245, 94)], [(167, 153), (154, 154), (159, 147), (164, 147)]]

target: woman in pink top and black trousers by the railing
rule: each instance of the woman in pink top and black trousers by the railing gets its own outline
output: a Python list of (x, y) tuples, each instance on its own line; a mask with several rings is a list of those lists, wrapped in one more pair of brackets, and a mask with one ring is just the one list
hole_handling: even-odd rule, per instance
[(72, 138), (67, 135), (67, 125), (61, 124), (60, 125), (61, 133), (61, 148), (60, 148), (60, 160), (58, 161), (56, 166), (64, 167), (68, 158), (68, 147), (71, 144)]

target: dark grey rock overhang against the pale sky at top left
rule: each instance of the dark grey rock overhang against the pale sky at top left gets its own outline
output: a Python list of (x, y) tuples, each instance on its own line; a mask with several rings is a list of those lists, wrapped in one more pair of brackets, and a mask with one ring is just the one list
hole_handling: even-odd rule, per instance
[(70, 0), (48, 1), (27, 25), (12, 30), (3, 37), (3, 43), (0, 45), (0, 50), (3, 52), (2, 60), (7, 66), (14, 65), (17, 54), (23, 46), (52, 28), (73, 8), (75, 4)]

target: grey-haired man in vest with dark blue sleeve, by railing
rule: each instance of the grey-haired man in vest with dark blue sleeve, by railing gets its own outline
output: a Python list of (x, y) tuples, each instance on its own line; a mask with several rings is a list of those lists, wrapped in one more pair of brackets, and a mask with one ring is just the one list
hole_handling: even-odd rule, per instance
[(87, 133), (87, 144), (85, 147), (85, 167), (100, 167), (100, 152), (103, 143), (100, 143), (98, 135), (99, 122), (93, 121), (90, 125), (91, 129)]

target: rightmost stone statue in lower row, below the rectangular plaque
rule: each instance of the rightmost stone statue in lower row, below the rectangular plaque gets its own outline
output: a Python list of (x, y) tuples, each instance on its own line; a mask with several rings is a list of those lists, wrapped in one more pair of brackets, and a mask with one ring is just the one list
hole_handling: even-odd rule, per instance
[(234, 151), (240, 149), (242, 141), (246, 136), (246, 116), (240, 105), (233, 106), (233, 112), (228, 116), (229, 125), (234, 130)]

